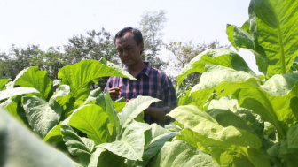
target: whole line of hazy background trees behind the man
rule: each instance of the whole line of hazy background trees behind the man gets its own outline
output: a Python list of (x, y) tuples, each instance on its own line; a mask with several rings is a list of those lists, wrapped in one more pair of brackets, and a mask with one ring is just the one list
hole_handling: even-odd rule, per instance
[[(153, 67), (161, 70), (168, 68), (178, 73), (193, 57), (206, 49), (230, 48), (220, 45), (216, 40), (211, 43), (163, 43), (162, 30), (168, 20), (166, 15), (166, 11), (145, 11), (137, 27), (142, 31), (145, 40), (142, 57)], [(161, 55), (162, 47), (171, 53), (171, 57)], [(59, 69), (63, 66), (74, 65), (83, 59), (99, 60), (102, 57), (122, 66), (114, 48), (114, 34), (110, 34), (104, 27), (89, 30), (85, 34), (75, 34), (63, 47), (53, 46), (47, 50), (42, 50), (38, 44), (28, 45), (27, 48), (18, 48), (12, 44), (8, 52), (0, 52), (0, 79), (14, 80), (21, 70), (29, 66), (38, 66), (40, 70), (48, 72), (51, 80), (57, 80)], [(176, 83), (176, 75), (169, 77)], [(184, 81), (185, 87), (193, 87), (200, 79), (200, 74), (192, 74), (188, 78), (190, 80), (187, 83)], [(106, 80), (107, 78), (100, 80), (97, 87), (105, 87)]]

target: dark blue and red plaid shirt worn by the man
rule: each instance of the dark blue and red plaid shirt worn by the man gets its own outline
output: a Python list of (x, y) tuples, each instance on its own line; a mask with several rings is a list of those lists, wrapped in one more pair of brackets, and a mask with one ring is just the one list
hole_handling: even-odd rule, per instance
[[(118, 96), (125, 99), (136, 98), (137, 95), (151, 96), (160, 99), (162, 102), (154, 102), (151, 107), (163, 108), (166, 113), (176, 108), (176, 91), (168, 76), (160, 70), (153, 68), (149, 62), (145, 62), (145, 68), (137, 74), (137, 80), (129, 80), (121, 77), (110, 77), (106, 83), (105, 93), (108, 88), (122, 86), (122, 92)], [(128, 71), (127, 66), (124, 70)], [(157, 123), (163, 125), (158, 119), (149, 115), (144, 116), (148, 124)]]

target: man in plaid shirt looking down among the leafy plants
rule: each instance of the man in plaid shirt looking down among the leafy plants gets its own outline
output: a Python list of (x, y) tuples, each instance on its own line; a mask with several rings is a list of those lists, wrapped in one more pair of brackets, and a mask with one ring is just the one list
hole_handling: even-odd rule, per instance
[(125, 27), (114, 38), (118, 56), (125, 65), (124, 69), (137, 80), (111, 77), (105, 87), (113, 100), (125, 97), (126, 101), (137, 98), (137, 95), (152, 96), (162, 102), (153, 103), (144, 110), (145, 122), (165, 125), (169, 122), (166, 114), (177, 106), (176, 92), (168, 76), (153, 68), (149, 62), (143, 62), (141, 54), (144, 49), (141, 32), (132, 27)]

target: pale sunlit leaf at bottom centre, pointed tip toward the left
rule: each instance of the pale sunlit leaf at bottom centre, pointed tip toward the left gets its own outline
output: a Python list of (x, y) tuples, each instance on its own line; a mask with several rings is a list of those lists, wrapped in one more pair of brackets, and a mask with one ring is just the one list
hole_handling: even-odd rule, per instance
[(129, 160), (142, 160), (145, 145), (144, 133), (149, 129), (150, 125), (132, 120), (119, 134), (118, 140), (100, 144), (98, 147), (106, 148), (115, 155)]

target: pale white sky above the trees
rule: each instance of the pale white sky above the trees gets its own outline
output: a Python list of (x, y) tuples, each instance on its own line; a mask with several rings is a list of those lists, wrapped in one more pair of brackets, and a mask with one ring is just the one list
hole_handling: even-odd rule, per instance
[[(162, 40), (195, 43), (218, 40), (231, 43), (226, 24), (242, 26), (248, 19), (250, 0), (0, 0), (0, 51), (14, 44), (26, 48), (39, 44), (46, 50), (66, 45), (75, 34), (104, 27), (116, 34), (123, 27), (139, 27), (145, 11), (167, 12)], [(232, 49), (232, 47), (231, 47)], [(165, 60), (169, 52), (162, 51)], [(239, 54), (258, 73), (249, 51)]]

